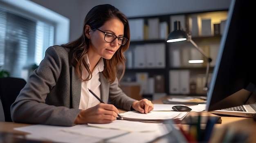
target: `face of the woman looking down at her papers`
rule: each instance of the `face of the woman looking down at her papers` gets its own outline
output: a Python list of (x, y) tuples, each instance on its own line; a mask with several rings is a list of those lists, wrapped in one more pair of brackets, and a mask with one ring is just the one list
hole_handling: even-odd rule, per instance
[[(98, 29), (104, 32), (115, 34), (117, 37), (124, 36), (124, 24), (119, 19), (108, 20)], [(106, 42), (104, 40), (105, 33), (99, 30), (90, 32), (89, 53), (93, 54), (94, 56), (99, 55), (105, 59), (111, 59), (121, 45), (117, 43), (117, 38), (111, 43)]]

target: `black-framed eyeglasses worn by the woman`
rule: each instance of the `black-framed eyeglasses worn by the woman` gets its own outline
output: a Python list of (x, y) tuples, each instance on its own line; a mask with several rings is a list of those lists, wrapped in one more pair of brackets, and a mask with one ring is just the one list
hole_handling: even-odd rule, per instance
[[(97, 30), (99, 30), (99, 29), (97, 29)], [(126, 37), (117, 37), (115, 34), (104, 32), (102, 30), (99, 30), (99, 31), (101, 31), (102, 33), (105, 34), (104, 40), (108, 43), (114, 42), (117, 39), (119, 45), (124, 45), (124, 44), (126, 44), (126, 42), (128, 40), (128, 38), (126, 38)]]

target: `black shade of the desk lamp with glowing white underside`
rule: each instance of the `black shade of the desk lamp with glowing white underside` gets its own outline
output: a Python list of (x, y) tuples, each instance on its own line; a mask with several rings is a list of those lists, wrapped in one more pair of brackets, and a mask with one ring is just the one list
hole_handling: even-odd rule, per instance
[(187, 35), (185, 31), (182, 31), (180, 28), (180, 21), (174, 22), (174, 31), (172, 31), (168, 37), (166, 42), (179, 42), (187, 39)]

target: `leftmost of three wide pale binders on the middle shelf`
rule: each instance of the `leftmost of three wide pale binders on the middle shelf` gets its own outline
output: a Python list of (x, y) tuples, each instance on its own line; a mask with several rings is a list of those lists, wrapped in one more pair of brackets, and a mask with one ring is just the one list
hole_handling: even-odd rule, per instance
[(146, 68), (144, 45), (136, 45), (134, 48), (134, 68)]

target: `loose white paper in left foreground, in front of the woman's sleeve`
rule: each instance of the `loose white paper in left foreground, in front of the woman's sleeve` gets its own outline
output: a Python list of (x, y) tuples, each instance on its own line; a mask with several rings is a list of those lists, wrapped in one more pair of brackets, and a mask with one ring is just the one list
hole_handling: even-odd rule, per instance
[(88, 125), (75, 125), (72, 127), (30, 125), (14, 129), (30, 133), (26, 136), (27, 139), (48, 140), (58, 143), (95, 143), (128, 133), (121, 130), (92, 128)]

